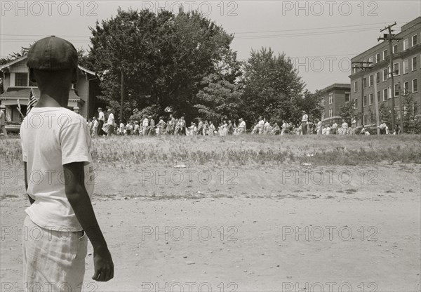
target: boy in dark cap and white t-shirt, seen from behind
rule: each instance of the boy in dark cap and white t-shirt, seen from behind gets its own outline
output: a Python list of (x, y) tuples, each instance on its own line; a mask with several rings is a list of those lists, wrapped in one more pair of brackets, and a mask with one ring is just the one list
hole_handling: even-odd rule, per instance
[[(40, 98), (20, 128), (31, 204), (25, 210), (24, 230), (41, 230), (42, 236), (22, 242), (24, 284), (81, 291), (86, 236), (94, 253), (92, 279), (112, 279), (114, 264), (90, 199), (94, 175), (86, 120), (67, 109), (69, 91), (78, 78), (76, 49), (55, 36), (41, 39), (29, 48), (27, 66)], [(41, 122), (31, 122), (34, 116)], [(39, 180), (34, 173), (48, 175)]]

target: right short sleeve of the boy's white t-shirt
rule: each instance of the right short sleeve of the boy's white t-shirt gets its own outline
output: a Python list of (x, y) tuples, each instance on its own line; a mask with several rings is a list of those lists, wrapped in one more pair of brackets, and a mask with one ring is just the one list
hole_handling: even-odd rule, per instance
[(92, 162), (90, 149), (91, 137), (88, 134), (86, 120), (83, 117), (72, 117), (70, 122), (60, 130), (62, 165), (72, 162)]

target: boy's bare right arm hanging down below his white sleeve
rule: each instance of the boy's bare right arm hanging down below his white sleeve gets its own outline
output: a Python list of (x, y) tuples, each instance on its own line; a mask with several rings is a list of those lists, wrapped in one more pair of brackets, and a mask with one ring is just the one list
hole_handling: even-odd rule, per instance
[(95, 274), (92, 279), (109, 281), (114, 277), (114, 263), (109, 253), (107, 242), (102, 235), (98, 221), (86, 192), (84, 184), (83, 162), (74, 162), (63, 166), (65, 171), (65, 192), (77, 220), (86, 232), (93, 246)]

